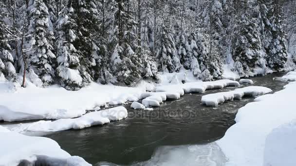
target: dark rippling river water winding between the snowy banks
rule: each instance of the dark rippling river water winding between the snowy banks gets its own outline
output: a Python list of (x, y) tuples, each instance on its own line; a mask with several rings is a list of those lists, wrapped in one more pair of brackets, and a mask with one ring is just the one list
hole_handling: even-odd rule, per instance
[[(273, 81), (283, 74), (251, 78), (256, 86), (266, 86), (274, 92), (285, 83)], [(242, 85), (247, 86), (247, 85)], [(205, 94), (233, 90), (227, 87), (209, 90)], [(225, 102), (218, 107), (201, 104), (205, 94), (185, 94), (180, 100), (165, 101), (153, 111), (132, 110), (122, 121), (83, 130), (70, 130), (47, 135), (56, 140), (71, 155), (83, 157), (95, 164), (106, 161), (130, 165), (151, 158), (154, 150), (166, 145), (204, 144), (222, 138), (235, 121), (238, 109), (252, 98)]]

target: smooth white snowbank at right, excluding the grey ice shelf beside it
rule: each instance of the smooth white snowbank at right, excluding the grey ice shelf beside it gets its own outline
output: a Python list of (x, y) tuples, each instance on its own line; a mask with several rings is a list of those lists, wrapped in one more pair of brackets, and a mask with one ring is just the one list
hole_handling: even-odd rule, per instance
[[(295, 92), (296, 84), (288, 84), (284, 90), (261, 96), (256, 100), (258, 102), (240, 108), (236, 124), (217, 141), (229, 159), (226, 166), (296, 164), (293, 153), (296, 133), (292, 133), (296, 125), (292, 123), (284, 128), (279, 127), (296, 119)], [(293, 138), (294, 141), (291, 141)]]

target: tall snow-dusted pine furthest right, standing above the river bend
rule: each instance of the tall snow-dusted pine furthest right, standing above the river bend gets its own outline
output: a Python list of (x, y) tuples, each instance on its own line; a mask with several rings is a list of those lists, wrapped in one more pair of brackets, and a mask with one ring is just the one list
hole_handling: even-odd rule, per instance
[(287, 61), (286, 34), (283, 31), (282, 1), (259, 0), (262, 41), (264, 42), (267, 65), (282, 70)]

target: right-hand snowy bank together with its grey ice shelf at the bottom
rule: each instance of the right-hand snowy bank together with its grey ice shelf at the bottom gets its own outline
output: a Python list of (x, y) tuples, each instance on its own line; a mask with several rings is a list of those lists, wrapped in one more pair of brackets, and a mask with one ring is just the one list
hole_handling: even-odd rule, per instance
[(143, 165), (295, 166), (295, 94), (296, 82), (291, 82), (281, 91), (260, 96), (240, 108), (236, 124), (222, 139), (207, 145), (160, 148)]

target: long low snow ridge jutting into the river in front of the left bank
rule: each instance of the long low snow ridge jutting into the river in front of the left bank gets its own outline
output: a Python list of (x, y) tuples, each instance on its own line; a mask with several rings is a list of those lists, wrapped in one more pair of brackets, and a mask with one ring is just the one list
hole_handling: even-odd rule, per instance
[(91, 112), (78, 118), (58, 119), (55, 121), (40, 120), (34, 123), (21, 124), (13, 131), (23, 132), (58, 132), (70, 129), (83, 129), (95, 125), (103, 125), (110, 121), (118, 121), (126, 118), (128, 111), (119, 106), (107, 110)]

